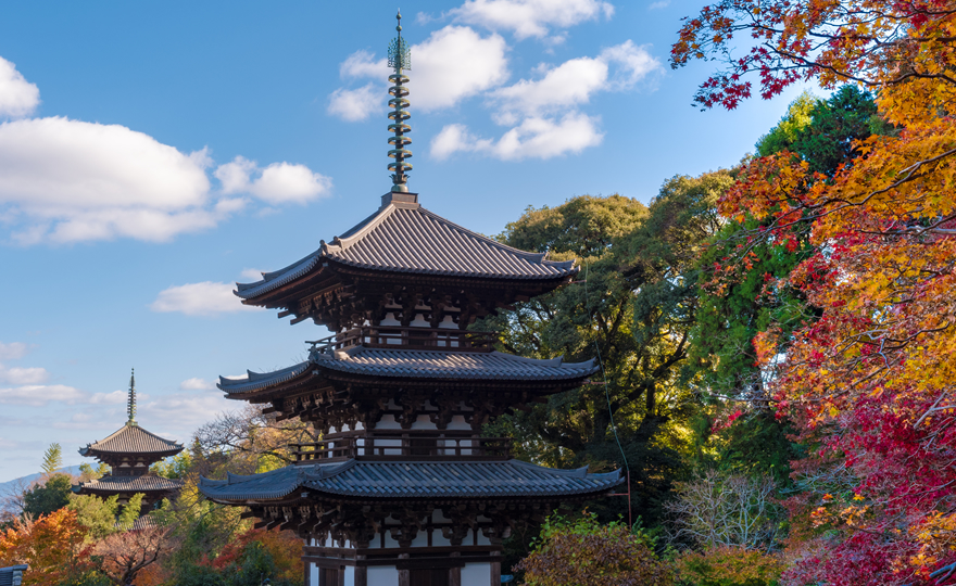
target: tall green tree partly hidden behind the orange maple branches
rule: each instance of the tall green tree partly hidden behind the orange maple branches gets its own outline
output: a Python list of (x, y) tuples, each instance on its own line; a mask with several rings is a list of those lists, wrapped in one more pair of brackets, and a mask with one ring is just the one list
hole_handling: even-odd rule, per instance
[[(875, 129), (886, 131), (876, 112), (872, 97), (856, 86), (845, 86), (827, 100), (805, 92), (760, 138), (757, 155), (792, 153), (812, 171), (830, 177), (856, 156), (855, 141)], [(802, 292), (778, 284), (814, 253), (808, 229), (794, 230), (785, 241), (751, 240), (765, 228), (753, 219), (728, 221), (700, 256), (700, 310), (691, 333), (688, 373), (701, 378), (702, 397), (712, 405), (694, 426), (699, 445), (710, 448), (709, 456), (697, 451), (699, 463), (766, 473), (785, 485), (790, 461), (801, 450), (788, 438), (789, 422), (776, 419), (769, 408), (772, 397), (767, 396), (765, 382), (772, 372), (755, 366), (753, 340), (771, 327), (785, 339), (819, 311), (807, 306)], [(733, 399), (745, 402), (749, 413), (715, 432), (714, 423), (727, 417), (728, 407), (737, 409)]]

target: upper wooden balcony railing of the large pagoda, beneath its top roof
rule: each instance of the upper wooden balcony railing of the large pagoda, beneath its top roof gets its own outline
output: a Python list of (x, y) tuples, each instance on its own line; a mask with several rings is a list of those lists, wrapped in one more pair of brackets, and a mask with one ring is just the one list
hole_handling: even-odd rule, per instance
[(451, 328), (362, 326), (306, 343), (312, 344), (313, 352), (326, 354), (357, 345), (368, 348), (491, 352), (494, 349), (494, 332), (477, 332)]

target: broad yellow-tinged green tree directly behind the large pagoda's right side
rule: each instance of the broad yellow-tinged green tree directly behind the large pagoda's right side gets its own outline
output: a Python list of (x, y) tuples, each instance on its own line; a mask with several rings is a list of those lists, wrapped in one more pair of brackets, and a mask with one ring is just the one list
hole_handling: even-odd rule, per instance
[[(556, 466), (622, 468), (622, 450), (632, 506), (652, 523), (681, 474), (682, 426), (693, 409), (679, 374), (696, 310), (694, 260), (718, 228), (715, 204), (732, 181), (722, 170), (675, 177), (650, 206), (612, 195), (529, 208), (500, 239), (576, 258), (583, 282), (476, 326), (501, 332), (503, 348), (523, 356), (600, 357), (603, 372), (593, 380), (602, 384), (554, 395), (489, 431), (516, 437), (525, 459)], [(622, 499), (595, 507), (608, 519), (627, 512)]]

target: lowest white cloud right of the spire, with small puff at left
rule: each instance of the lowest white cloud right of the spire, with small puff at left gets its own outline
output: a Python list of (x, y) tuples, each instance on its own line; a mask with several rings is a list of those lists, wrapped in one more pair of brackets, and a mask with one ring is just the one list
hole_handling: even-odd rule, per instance
[(598, 119), (579, 112), (571, 112), (557, 120), (527, 118), (498, 141), (476, 137), (466, 126), (453, 124), (442, 128), (431, 141), (431, 155), (443, 160), (455, 152), (468, 151), (502, 161), (551, 158), (581, 152), (600, 144), (603, 138), (598, 130)]

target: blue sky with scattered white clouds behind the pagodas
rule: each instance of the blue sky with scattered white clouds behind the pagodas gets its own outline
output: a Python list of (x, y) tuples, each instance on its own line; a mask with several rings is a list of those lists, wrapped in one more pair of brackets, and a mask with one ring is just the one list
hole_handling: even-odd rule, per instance
[[(703, 3), (703, 2), (701, 2)], [(0, 481), (138, 420), (186, 441), (219, 374), (325, 335), (241, 306), (235, 281), (306, 255), (390, 187), (393, 2), (22, 2), (0, 8)], [(579, 194), (649, 201), (733, 165), (800, 88), (691, 106), (667, 63), (679, 0), (404, 4), (429, 209), (498, 233)]]

